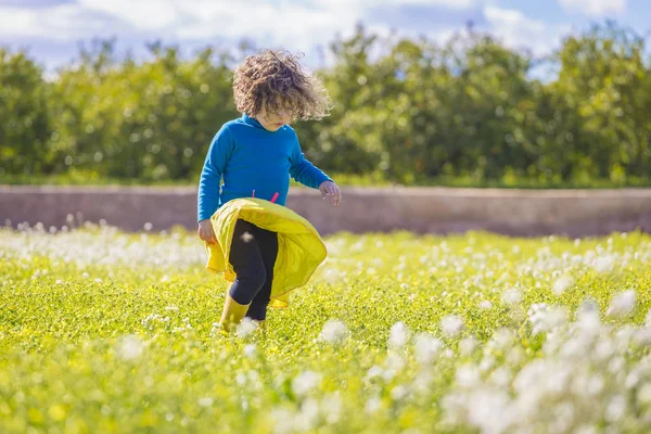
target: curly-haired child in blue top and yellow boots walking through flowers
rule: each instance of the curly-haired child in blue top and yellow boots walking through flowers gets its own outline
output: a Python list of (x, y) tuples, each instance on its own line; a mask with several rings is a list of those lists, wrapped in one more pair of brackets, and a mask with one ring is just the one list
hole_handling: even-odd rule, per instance
[[(226, 331), (245, 316), (257, 322), (265, 320), (279, 254), (279, 234), (272, 230), (276, 227), (266, 224), (263, 228), (253, 218), (240, 218), (241, 209), (263, 206), (276, 209), (275, 215), (284, 218), (283, 212), (286, 215), (289, 210), (279, 212), (269, 202), (285, 205), (290, 176), (319, 189), (323, 199), (331, 195), (335, 206), (342, 201), (334, 181), (305, 158), (289, 125), (296, 119), (321, 119), (330, 110), (326, 89), (303, 69), (296, 56), (265, 50), (246, 58), (235, 69), (233, 93), (242, 117), (226, 123), (213, 139), (197, 195), (199, 237), (225, 257), (226, 266), (222, 263), (221, 268), (228, 270), (230, 266), (234, 273), (220, 320)], [(242, 202), (242, 197), (256, 197), (258, 202)], [(233, 209), (226, 213), (226, 204)], [(221, 215), (216, 213), (218, 209)], [(217, 237), (215, 228), (219, 232), (229, 221), (225, 214), (238, 217), (230, 231), (221, 231), (224, 237)], [(289, 217), (301, 221), (308, 234), (316, 233), (307, 220), (297, 215)]]

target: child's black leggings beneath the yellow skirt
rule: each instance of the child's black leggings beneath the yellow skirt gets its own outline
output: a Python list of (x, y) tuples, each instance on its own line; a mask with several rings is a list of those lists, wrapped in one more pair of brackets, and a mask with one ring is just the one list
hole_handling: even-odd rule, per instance
[(267, 317), (271, 295), (273, 265), (278, 256), (278, 234), (239, 219), (235, 222), (229, 260), (238, 276), (230, 296), (247, 305), (246, 316), (255, 320)]

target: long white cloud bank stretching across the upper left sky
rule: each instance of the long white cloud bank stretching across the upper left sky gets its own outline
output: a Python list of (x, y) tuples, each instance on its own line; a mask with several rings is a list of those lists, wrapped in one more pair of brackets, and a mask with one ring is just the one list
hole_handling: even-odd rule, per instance
[[(419, 1), (419, 0), (411, 0)], [(425, 0), (420, 0), (425, 1)], [(436, 0), (444, 1), (444, 0)], [(463, 0), (468, 2), (471, 0)], [(92, 37), (202, 40), (247, 37), (270, 47), (307, 51), (349, 35), (363, 4), (251, 0), (78, 0), (47, 8), (0, 7), (0, 38), (77, 41)]]

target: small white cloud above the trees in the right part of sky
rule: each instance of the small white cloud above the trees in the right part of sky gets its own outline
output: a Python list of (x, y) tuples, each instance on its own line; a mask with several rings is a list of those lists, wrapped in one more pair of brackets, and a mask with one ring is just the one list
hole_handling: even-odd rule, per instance
[(560, 42), (569, 26), (549, 26), (540, 20), (533, 20), (522, 12), (494, 5), (484, 8), (484, 16), (489, 30), (511, 48), (526, 47), (535, 55), (549, 54)]

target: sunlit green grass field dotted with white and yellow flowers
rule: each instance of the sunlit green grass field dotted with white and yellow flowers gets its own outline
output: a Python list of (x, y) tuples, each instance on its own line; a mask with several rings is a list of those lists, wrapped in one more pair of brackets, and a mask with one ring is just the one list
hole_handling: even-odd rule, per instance
[(225, 336), (196, 235), (46, 229), (0, 229), (2, 433), (651, 430), (647, 234), (340, 234)]

